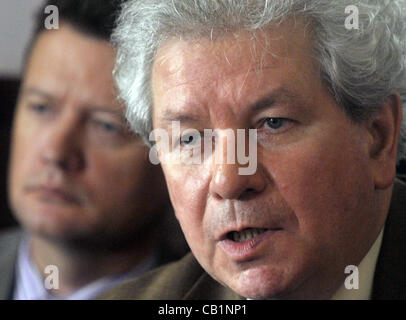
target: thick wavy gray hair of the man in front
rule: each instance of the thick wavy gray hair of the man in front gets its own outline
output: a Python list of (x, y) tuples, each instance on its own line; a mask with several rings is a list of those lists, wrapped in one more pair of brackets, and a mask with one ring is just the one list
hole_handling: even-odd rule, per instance
[[(358, 30), (345, 28), (350, 5), (359, 10)], [(351, 119), (369, 119), (395, 92), (406, 108), (406, 0), (130, 0), (112, 42), (131, 129), (149, 144), (151, 70), (166, 41), (255, 32), (297, 16), (311, 24), (321, 77)], [(399, 160), (406, 156), (404, 127)]]

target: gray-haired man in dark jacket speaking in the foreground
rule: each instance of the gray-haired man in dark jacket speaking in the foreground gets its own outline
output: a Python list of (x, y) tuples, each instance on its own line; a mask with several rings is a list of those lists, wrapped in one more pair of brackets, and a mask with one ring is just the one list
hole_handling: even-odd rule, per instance
[[(104, 298), (406, 298), (405, 12), (403, 0), (129, 1), (116, 78), (192, 254)], [(220, 148), (226, 130), (256, 132), (253, 173), (217, 157), (247, 144)]]

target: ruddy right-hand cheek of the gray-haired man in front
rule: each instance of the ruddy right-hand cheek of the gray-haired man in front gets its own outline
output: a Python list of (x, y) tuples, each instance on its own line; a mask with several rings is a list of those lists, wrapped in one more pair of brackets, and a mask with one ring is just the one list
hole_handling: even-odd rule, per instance
[(360, 203), (368, 198), (371, 175), (350, 139), (309, 141), (268, 161), (275, 163), (275, 185), (295, 212), (299, 234), (315, 239), (348, 234), (343, 229), (354, 213), (365, 210)]

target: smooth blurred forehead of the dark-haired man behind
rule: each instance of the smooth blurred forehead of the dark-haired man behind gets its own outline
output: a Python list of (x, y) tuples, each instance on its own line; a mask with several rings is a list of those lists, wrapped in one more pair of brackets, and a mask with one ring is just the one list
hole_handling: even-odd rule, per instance
[[(66, 37), (74, 39), (69, 50), (57, 45)], [(89, 46), (82, 46), (86, 41)], [(94, 48), (93, 42), (97, 44)], [(89, 60), (93, 62), (88, 63)], [(66, 26), (56, 33), (45, 32), (30, 54), (24, 74), (24, 93), (58, 103), (70, 99), (89, 106), (116, 105), (113, 64), (114, 51), (108, 43), (88, 39)]]

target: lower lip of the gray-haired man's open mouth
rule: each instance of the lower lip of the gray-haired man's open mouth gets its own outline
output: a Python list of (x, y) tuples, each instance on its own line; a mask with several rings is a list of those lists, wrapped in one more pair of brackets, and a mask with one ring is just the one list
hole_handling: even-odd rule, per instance
[(236, 261), (247, 261), (254, 258), (263, 247), (262, 244), (265, 244), (270, 240), (270, 238), (272, 238), (272, 236), (278, 231), (281, 231), (281, 229), (267, 230), (260, 235), (243, 242), (224, 239), (219, 242), (219, 245), (231, 259)]

